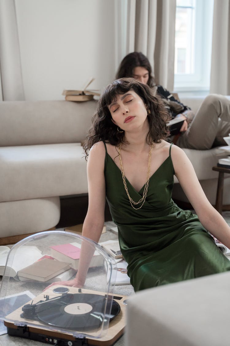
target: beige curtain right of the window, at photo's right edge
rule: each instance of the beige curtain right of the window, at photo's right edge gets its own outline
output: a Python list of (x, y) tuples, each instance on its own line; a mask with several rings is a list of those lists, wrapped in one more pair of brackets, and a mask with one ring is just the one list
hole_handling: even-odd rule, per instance
[(210, 93), (230, 95), (230, 0), (214, 0)]

